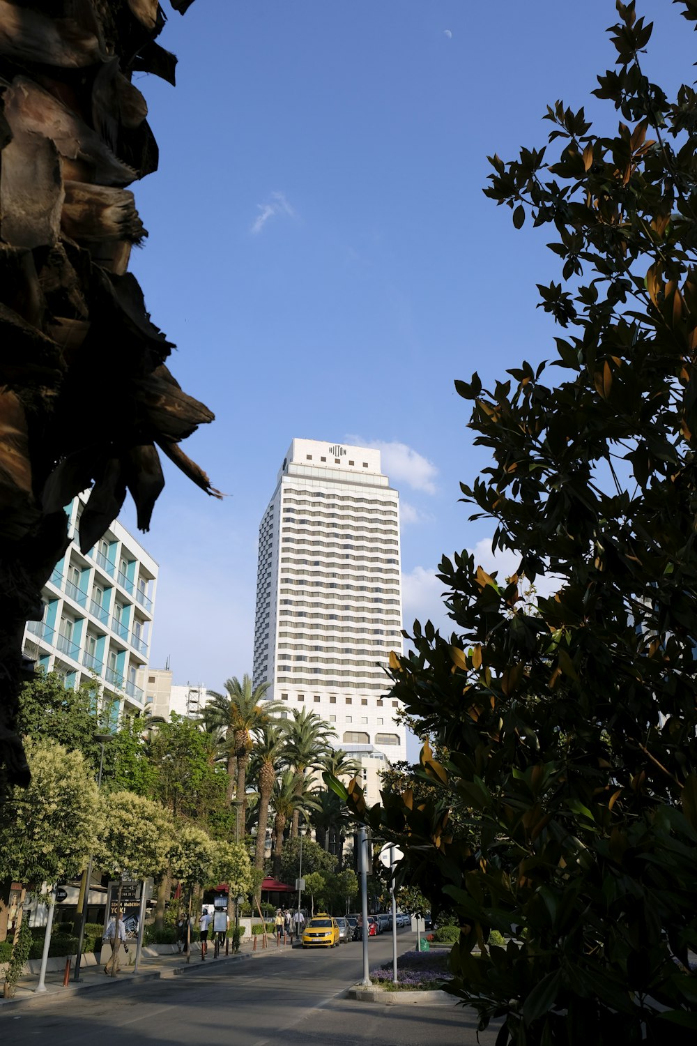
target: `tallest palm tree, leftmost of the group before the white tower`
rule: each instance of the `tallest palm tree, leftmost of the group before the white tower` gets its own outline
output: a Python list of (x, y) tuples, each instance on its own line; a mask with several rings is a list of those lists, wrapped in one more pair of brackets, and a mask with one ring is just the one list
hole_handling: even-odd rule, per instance
[(226, 693), (210, 690), (212, 700), (206, 705), (206, 721), (211, 725), (225, 727), (228, 751), (228, 801), (232, 799), (232, 768), (236, 773), (236, 798), (239, 823), (247, 819), (247, 765), (252, 748), (252, 732), (261, 730), (271, 722), (278, 709), (275, 702), (264, 701), (269, 683), (252, 686), (252, 677), (247, 673), (242, 681), (233, 676), (225, 684)]

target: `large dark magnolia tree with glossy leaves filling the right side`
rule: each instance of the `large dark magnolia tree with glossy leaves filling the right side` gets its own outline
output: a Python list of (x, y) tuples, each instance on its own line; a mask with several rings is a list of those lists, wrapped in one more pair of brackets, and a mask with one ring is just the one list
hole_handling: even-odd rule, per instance
[[(392, 659), (443, 753), (421, 755), (433, 794), (367, 810), (350, 788), (405, 880), (455, 908), (451, 991), (482, 1027), (504, 1018), (498, 1046), (697, 1030), (697, 94), (649, 82), (651, 26), (618, 10), (595, 94), (619, 126), (558, 101), (547, 151), (492, 159), (487, 195), (562, 262), (539, 287), (551, 362), (457, 384), (492, 458), (464, 499), (517, 570), (444, 559), (452, 635), (417, 622)], [(532, 613), (521, 583), (543, 576)]]

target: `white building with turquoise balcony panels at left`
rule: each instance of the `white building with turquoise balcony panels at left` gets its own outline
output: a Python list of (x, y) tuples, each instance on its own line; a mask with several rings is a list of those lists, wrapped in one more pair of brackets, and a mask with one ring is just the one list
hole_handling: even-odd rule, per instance
[(96, 677), (113, 717), (144, 710), (138, 673), (147, 665), (158, 565), (118, 521), (87, 554), (76, 533), (85, 497), (66, 508), (67, 552), (44, 586), (41, 621), (28, 621), (26, 657), (78, 686)]

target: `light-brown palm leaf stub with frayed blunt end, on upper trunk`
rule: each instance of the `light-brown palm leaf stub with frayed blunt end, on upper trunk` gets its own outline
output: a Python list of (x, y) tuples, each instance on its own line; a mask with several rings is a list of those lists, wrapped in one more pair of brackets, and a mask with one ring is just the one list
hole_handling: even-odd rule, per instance
[(61, 226), (72, 240), (140, 244), (147, 235), (130, 189), (65, 182)]

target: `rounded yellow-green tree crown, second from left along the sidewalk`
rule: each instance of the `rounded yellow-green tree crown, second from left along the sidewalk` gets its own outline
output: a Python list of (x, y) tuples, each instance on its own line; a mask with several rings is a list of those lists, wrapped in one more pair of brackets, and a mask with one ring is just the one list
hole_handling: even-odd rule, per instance
[(100, 868), (130, 879), (166, 870), (173, 825), (160, 803), (134, 792), (112, 792), (103, 798), (102, 816), (95, 855)]

